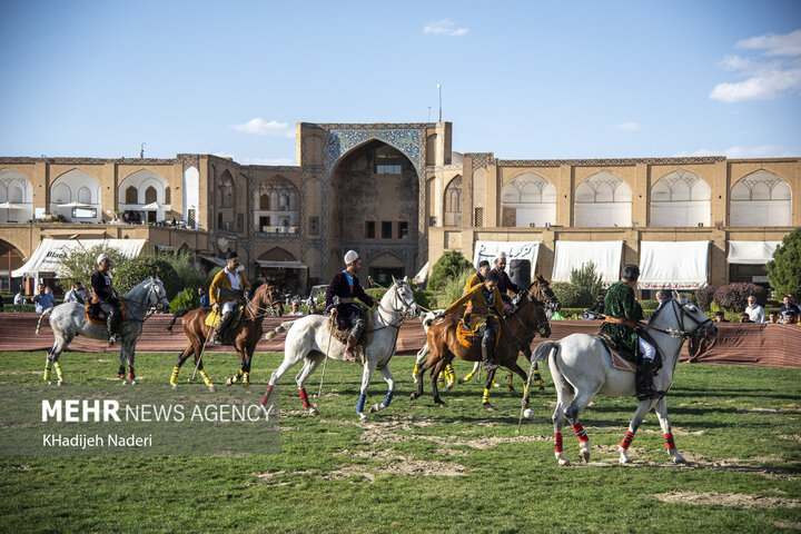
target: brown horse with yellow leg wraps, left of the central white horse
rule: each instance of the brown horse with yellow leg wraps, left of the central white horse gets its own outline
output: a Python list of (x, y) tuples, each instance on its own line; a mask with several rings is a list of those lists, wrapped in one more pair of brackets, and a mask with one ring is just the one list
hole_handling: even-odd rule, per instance
[[(172, 377), (170, 378), (172, 389), (178, 387), (178, 373), (180, 372), (181, 365), (194, 354), (197, 370), (200, 373), (209, 390), (217, 390), (211, 383), (211, 378), (209, 378), (208, 374), (204, 370), (201, 357), (208, 337), (211, 336), (214, 330), (214, 327), (206, 326), (206, 316), (210, 313), (211, 308), (197, 308), (184, 317), (184, 333), (189, 339), (189, 345), (180, 356), (178, 356), (178, 363), (172, 369)], [(265, 283), (256, 289), (253, 299), (248, 300), (243, 317), (239, 319), (239, 324), (228, 330), (230, 338), (234, 340), (234, 348), (237, 355), (239, 355), (239, 362), (241, 362), (241, 367), (237, 374), (228, 378), (227, 384), (229, 386), (241, 380), (245, 389), (250, 387), (250, 360), (253, 359), (256, 344), (261, 337), (261, 323), (265, 316), (274, 314), (279, 317), (284, 315), (284, 306), (281, 306), (278, 289)]]

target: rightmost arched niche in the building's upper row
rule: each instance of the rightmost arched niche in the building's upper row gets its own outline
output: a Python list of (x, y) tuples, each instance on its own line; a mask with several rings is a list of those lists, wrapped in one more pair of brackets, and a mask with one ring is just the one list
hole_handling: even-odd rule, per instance
[(730, 205), (730, 226), (792, 226), (790, 184), (767, 170), (740, 178)]

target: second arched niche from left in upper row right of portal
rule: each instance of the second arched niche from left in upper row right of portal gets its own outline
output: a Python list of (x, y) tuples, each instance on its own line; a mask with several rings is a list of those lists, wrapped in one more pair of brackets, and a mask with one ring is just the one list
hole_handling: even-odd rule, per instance
[(573, 226), (630, 227), (631, 214), (631, 187), (611, 172), (596, 172), (576, 187)]

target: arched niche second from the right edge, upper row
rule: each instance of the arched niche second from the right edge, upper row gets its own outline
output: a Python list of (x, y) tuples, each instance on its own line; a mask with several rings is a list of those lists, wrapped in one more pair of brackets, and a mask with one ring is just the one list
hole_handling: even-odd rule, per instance
[(710, 226), (711, 198), (706, 181), (686, 170), (674, 170), (651, 188), (650, 226)]

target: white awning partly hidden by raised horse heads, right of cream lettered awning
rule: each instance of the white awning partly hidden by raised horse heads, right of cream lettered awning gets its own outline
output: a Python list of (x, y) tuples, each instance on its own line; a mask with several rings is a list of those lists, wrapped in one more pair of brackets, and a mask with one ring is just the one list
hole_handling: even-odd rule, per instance
[(623, 241), (556, 241), (552, 281), (570, 281), (571, 271), (592, 261), (606, 284), (620, 280)]

